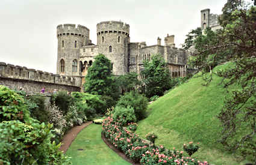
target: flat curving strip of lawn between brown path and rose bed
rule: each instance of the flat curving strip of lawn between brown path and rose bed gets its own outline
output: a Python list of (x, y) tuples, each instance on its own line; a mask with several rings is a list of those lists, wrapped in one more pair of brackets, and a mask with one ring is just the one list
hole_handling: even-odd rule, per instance
[[(80, 164), (130, 164), (117, 155), (101, 139), (101, 125), (91, 124), (84, 128), (73, 141), (66, 155), (72, 157), (72, 163)], [(84, 149), (78, 151), (78, 149)]]

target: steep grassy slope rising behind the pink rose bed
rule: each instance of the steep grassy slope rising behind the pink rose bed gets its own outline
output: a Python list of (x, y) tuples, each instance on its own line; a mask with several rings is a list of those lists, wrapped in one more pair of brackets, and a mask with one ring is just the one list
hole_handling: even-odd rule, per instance
[[(223, 66), (216, 67), (215, 71)], [(149, 105), (149, 116), (139, 122), (137, 134), (145, 138), (148, 133), (158, 135), (157, 145), (181, 150), (183, 143), (199, 142), (200, 149), (193, 155), (212, 164), (242, 164), (231, 154), (225, 153), (217, 140), (221, 126), (219, 114), (226, 89), (219, 85), (220, 77), (214, 76), (209, 86), (202, 86), (202, 77), (170, 91)]]

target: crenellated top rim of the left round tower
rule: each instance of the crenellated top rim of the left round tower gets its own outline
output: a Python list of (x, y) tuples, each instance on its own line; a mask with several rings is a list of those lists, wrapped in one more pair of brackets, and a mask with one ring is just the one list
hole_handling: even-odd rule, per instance
[(89, 37), (90, 29), (86, 26), (75, 24), (63, 24), (57, 26), (57, 37), (61, 35), (78, 35), (81, 37)]

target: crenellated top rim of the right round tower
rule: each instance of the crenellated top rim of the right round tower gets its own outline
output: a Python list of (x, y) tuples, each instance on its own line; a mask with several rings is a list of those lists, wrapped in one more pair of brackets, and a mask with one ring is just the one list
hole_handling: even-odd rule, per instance
[(130, 25), (119, 21), (105, 21), (97, 24), (97, 35), (110, 32), (122, 33), (129, 36)]

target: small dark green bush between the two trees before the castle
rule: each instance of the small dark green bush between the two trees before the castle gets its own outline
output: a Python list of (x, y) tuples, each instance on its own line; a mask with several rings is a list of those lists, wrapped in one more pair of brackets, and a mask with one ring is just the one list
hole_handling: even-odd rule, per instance
[(119, 76), (118, 82), (119, 86), (122, 89), (122, 93), (130, 92), (136, 86), (141, 85), (141, 82), (137, 79), (138, 74), (135, 72), (126, 73), (124, 75)]

